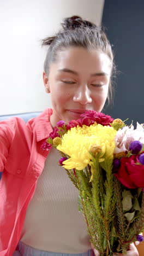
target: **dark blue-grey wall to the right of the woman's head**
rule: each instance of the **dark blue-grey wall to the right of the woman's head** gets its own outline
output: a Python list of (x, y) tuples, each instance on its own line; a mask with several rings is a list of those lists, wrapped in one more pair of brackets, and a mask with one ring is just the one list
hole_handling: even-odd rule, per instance
[(105, 1), (103, 26), (115, 46), (116, 79), (114, 104), (105, 110), (113, 118), (144, 123), (144, 1)]

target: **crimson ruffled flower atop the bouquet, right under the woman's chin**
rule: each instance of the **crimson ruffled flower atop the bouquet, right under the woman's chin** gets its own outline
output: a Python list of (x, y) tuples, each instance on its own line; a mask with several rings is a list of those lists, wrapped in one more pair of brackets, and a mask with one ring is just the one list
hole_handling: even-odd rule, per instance
[(114, 120), (110, 115), (105, 115), (101, 112), (96, 112), (95, 110), (87, 110), (85, 113), (81, 114), (83, 121), (85, 118), (90, 119), (91, 121), (96, 121), (97, 124), (109, 125)]

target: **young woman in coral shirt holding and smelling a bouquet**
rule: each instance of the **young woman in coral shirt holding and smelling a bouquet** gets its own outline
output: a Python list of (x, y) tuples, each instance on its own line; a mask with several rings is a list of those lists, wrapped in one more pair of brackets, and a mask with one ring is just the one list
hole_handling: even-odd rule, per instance
[[(0, 123), (0, 255), (98, 256), (78, 211), (79, 191), (58, 166), (57, 151), (41, 144), (59, 120), (79, 119), (88, 109), (100, 112), (110, 101), (111, 45), (100, 27), (79, 16), (65, 19), (43, 45), (43, 80), (53, 109), (27, 124), (20, 118)], [(139, 255), (134, 244), (128, 255)]]

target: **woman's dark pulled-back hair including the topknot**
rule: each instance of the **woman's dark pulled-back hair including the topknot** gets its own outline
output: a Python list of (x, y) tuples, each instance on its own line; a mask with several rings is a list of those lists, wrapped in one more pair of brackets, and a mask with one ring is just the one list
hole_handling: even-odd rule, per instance
[[(104, 30), (90, 21), (82, 20), (80, 16), (65, 18), (62, 27), (63, 29), (56, 36), (47, 37), (42, 40), (42, 46), (49, 45), (44, 62), (44, 71), (47, 74), (49, 73), (50, 64), (57, 60), (59, 50), (75, 46), (86, 49), (97, 49), (109, 56), (112, 63), (112, 79), (115, 74), (115, 64), (113, 63), (111, 44)], [(107, 96), (109, 102), (112, 99), (112, 94), (113, 88), (110, 80), (109, 94)]]

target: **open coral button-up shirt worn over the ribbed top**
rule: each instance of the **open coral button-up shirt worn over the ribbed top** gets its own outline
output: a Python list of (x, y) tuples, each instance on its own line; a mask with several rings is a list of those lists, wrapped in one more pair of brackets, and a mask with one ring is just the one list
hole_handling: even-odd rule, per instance
[(21, 118), (0, 122), (0, 255), (13, 255), (26, 211), (49, 153), (40, 148), (52, 127), (52, 109), (26, 124)]

